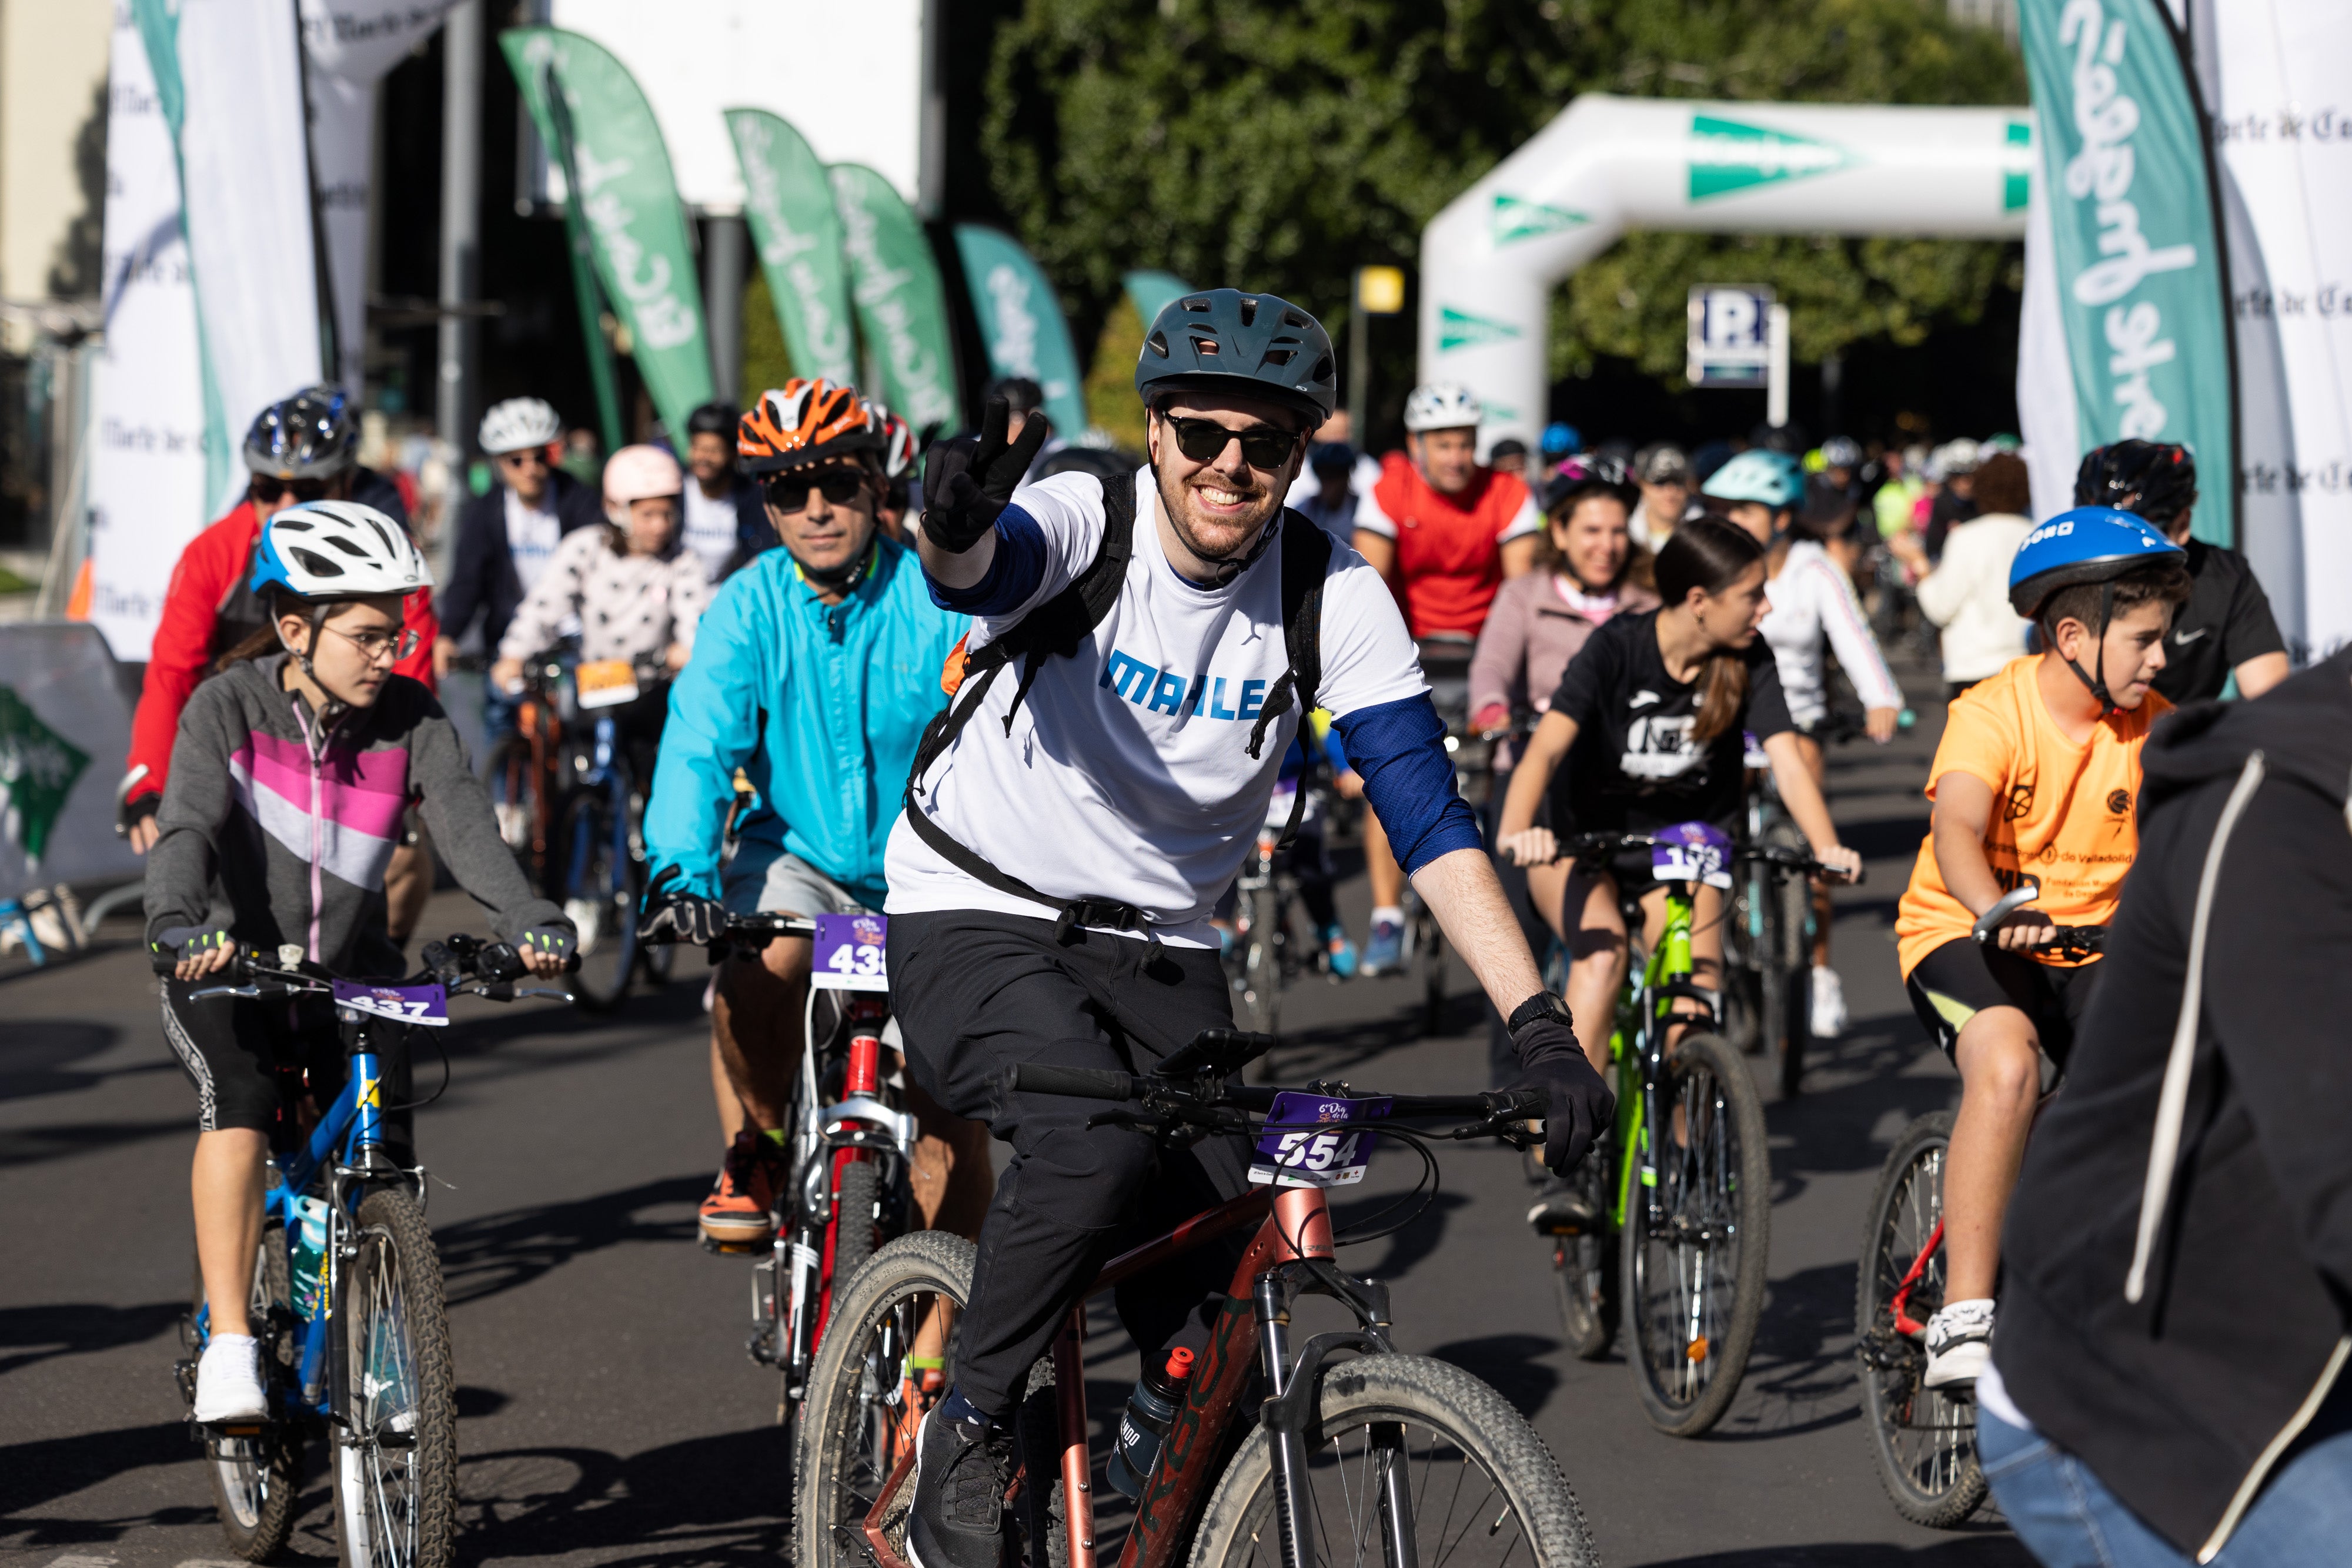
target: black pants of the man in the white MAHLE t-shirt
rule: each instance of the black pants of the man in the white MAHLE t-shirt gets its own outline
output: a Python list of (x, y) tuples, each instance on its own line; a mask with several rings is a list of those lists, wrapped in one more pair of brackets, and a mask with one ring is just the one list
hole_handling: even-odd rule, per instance
[[(1214, 947), (1164, 947), (1054, 922), (955, 910), (891, 914), (891, 1009), (924, 1093), (988, 1121), (1011, 1145), (981, 1222), (955, 1385), (1007, 1415), (1094, 1269), (1176, 1220), (1249, 1190), (1249, 1143), (1204, 1138), (1162, 1150), (1148, 1133), (1089, 1128), (1101, 1100), (1011, 1093), (1014, 1063), (1150, 1072), (1202, 1030), (1232, 1027)], [(1145, 1352), (1207, 1342), (1214, 1300), (1247, 1237), (1195, 1248), (1117, 1291), (1120, 1321)]]

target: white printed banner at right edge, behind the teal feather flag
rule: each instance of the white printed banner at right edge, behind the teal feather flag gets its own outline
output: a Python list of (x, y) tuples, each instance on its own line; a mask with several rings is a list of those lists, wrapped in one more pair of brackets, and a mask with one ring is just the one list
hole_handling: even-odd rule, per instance
[(2197, 47), (2232, 209), (2241, 538), (2303, 663), (2352, 642), (2352, 7), (2209, 0)]

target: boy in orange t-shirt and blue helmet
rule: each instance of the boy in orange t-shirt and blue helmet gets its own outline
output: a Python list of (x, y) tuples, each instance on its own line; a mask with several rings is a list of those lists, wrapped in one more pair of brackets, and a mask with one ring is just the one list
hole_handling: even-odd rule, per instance
[[(1945, 1305), (1929, 1321), (1929, 1387), (1973, 1385), (1992, 1356), (2002, 1213), (2042, 1100), (2065, 1065), (2096, 959), (2039, 954), (2053, 926), (2103, 926), (2140, 846), (2140, 745), (2171, 712), (2150, 691), (2187, 602), (2183, 552), (2131, 512), (2077, 508), (2034, 529), (2009, 597), (2042, 635), (1962, 693), (1936, 748), (1933, 825), (1896, 912), (1903, 983), (1959, 1067), (1943, 1173)], [(1976, 919), (2032, 882), (1992, 933)]]

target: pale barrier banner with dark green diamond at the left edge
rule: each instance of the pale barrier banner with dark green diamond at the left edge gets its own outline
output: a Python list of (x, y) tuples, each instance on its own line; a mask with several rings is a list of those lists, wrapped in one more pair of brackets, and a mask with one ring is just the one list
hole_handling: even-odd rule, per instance
[(129, 748), (132, 710), (96, 628), (0, 625), (0, 898), (139, 875), (115, 837)]

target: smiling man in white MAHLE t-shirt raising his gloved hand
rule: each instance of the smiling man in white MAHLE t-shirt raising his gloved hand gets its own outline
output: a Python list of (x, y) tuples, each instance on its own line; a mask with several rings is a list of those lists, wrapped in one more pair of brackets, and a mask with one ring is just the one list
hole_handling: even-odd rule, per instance
[[(889, 966), (915, 1079), (1011, 1145), (978, 1237), (957, 1385), (917, 1439), (908, 1559), (995, 1568), (1007, 1418), (1030, 1363), (1134, 1213), (1249, 1190), (1247, 1143), (1162, 1150), (1018, 1093), (1014, 1063), (1150, 1070), (1232, 1001), (1209, 914), (1265, 818), (1301, 715), (1327, 708), (1416, 889), (1512, 1020), (1519, 1086), (1548, 1095), (1569, 1168), (1611, 1117), (1454, 790), (1404, 616), (1352, 550), (1284, 512), (1334, 404), (1319, 322), (1268, 294), (1171, 301), (1136, 390), (1150, 468), (1014, 487), (1044, 421), (934, 447), (922, 564), (978, 618), (889, 842)], [(1301, 689), (1305, 686), (1305, 689)], [(1211, 1253), (1216, 1248), (1209, 1248)], [(1232, 1258), (1120, 1291), (1145, 1349), (1207, 1342)]]

